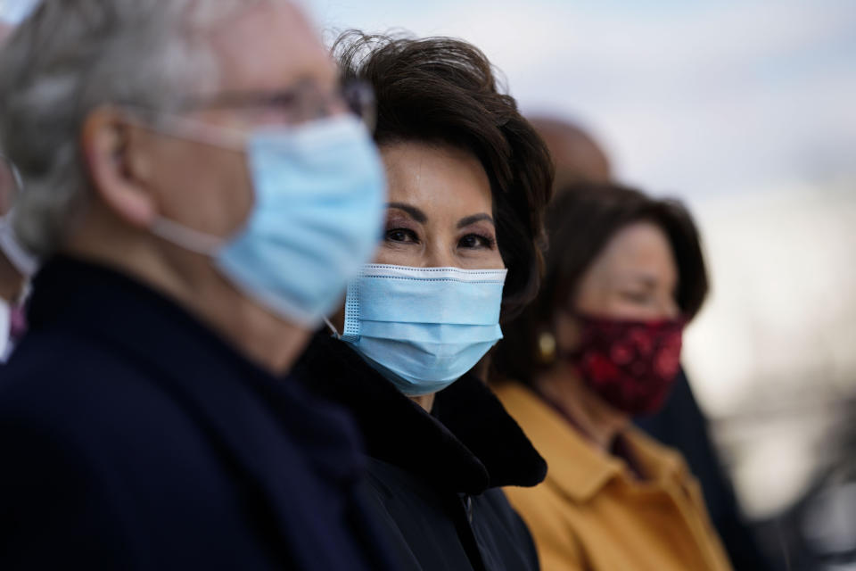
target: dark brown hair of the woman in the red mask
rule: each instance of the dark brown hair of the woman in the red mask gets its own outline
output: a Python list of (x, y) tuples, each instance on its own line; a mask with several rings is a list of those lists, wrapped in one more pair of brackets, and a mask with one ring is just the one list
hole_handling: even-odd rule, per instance
[(656, 200), (638, 190), (612, 184), (561, 188), (547, 207), (545, 273), (538, 297), (511, 323), (493, 352), (491, 377), (530, 384), (543, 367), (539, 335), (549, 331), (560, 307), (567, 308), (588, 268), (610, 239), (633, 222), (663, 228), (678, 266), (675, 301), (692, 319), (707, 295), (707, 270), (695, 222), (675, 200)]

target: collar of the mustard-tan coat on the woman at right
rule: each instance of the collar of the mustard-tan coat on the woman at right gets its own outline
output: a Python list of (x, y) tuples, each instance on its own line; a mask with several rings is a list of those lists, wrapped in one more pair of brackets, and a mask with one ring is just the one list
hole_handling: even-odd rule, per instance
[[(498, 386), (497, 394), (547, 459), (550, 466), (547, 483), (562, 490), (573, 501), (590, 501), (615, 479), (635, 482), (621, 459), (588, 443), (576, 428), (528, 387), (506, 382)], [(632, 427), (620, 437), (652, 485), (666, 480), (687, 483), (689, 472), (679, 454)], [(631, 487), (641, 489), (646, 484)]]

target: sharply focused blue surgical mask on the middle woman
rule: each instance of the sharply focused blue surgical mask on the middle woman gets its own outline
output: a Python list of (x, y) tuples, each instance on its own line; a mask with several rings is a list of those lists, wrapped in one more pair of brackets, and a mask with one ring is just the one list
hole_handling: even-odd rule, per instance
[(342, 340), (407, 396), (436, 393), (502, 338), (506, 271), (366, 265), (348, 285)]

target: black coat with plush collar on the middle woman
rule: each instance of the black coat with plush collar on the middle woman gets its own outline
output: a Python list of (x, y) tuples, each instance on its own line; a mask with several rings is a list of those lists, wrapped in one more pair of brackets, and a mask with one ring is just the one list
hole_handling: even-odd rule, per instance
[(438, 393), (428, 414), (324, 334), (293, 372), (357, 419), (370, 509), (402, 569), (539, 568), (529, 531), (498, 488), (539, 484), (547, 465), (477, 377)]

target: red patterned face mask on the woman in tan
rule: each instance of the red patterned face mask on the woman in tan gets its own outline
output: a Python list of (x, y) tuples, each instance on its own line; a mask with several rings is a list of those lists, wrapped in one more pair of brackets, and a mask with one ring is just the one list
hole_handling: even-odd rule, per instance
[(660, 410), (678, 376), (685, 321), (576, 317), (580, 346), (565, 358), (586, 385), (630, 415)]

